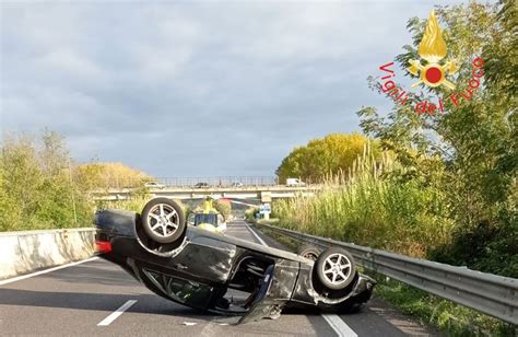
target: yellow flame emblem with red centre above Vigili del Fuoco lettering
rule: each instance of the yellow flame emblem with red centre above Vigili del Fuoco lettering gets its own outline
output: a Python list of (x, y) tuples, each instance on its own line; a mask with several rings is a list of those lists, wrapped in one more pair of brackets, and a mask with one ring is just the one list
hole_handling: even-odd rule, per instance
[(447, 48), (434, 11), (429, 13), (417, 53), (421, 58), (426, 60), (426, 65), (423, 66), (420, 60), (410, 60), (409, 72), (414, 75), (420, 75), (420, 81), (412, 84), (412, 88), (424, 83), (431, 88), (445, 85), (454, 90), (455, 84), (448, 81), (446, 75), (454, 74), (459, 68), (452, 60), (447, 61), (445, 65), (439, 63), (439, 61), (446, 57)]

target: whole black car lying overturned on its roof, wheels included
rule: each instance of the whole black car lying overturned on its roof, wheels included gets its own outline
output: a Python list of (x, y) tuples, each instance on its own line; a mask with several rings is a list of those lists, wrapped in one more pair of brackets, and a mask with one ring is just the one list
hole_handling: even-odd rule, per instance
[(284, 307), (351, 310), (370, 298), (375, 284), (342, 248), (313, 260), (188, 226), (181, 208), (167, 198), (149, 201), (141, 214), (97, 211), (95, 224), (101, 257), (163, 298), (239, 315), (238, 323), (276, 318)]

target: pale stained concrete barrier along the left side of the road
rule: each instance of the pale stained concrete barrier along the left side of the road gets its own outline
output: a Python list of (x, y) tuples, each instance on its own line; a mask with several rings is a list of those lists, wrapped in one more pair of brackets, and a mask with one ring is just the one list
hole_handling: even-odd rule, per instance
[(0, 279), (85, 259), (94, 253), (94, 229), (0, 233)]

